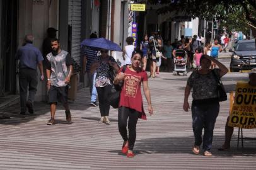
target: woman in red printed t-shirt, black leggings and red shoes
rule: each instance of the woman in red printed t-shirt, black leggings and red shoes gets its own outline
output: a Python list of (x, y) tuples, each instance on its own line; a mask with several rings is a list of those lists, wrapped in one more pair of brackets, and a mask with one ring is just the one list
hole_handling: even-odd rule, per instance
[[(132, 150), (136, 140), (136, 125), (138, 118), (146, 120), (146, 115), (143, 110), (141, 83), (143, 84), (143, 91), (148, 101), (149, 115), (153, 114), (148, 87), (148, 76), (146, 71), (142, 69), (142, 56), (143, 52), (141, 50), (134, 50), (131, 58), (132, 64), (128, 65), (124, 72), (121, 72), (121, 68), (114, 81), (115, 84), (119, 84), (120, 81), (124, 81), (120, 94), (118, 125), (120, 135), (124, 139), (122, 152), (127, 154), (127, 157), (134, 157)], [(129, 137), (127, 135), (126, 128), (127, 120)]]

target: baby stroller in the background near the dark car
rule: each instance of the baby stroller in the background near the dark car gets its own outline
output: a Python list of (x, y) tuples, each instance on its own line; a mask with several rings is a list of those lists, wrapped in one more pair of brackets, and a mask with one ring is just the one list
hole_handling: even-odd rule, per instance
[(183, 76), (187, 76), (187, 54), (185, 50), (178, 49), (176, 50), (176, 54), (173, 59), (174, 62), (174, 71), (173, 75), (180, 75), (182, 73)]

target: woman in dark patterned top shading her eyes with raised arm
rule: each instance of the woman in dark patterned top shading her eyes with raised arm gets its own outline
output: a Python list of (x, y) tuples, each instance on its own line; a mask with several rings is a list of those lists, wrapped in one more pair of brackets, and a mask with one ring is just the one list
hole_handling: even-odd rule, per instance
[[(218, 65), (219, 69), (210, 69), (211, 62)], [(202, 145), (204, 156), (212, 156), (213, 129), (219, 114), (219, 78), (228, 72), (228, 69), (218, 60), (209, 55), (202, 55), (200, 59), (201, 69), (195, 70), (190, 75), (185, 88), (183, 110), (189, 111), (189, 94), (192, 93), (192, 127), (195, 143), (192, 147), (194, 154), (199, 154)], [(218, 79), (216, 79), (218, 77)], [(204, 138), (202, 140), (202, 128)]]

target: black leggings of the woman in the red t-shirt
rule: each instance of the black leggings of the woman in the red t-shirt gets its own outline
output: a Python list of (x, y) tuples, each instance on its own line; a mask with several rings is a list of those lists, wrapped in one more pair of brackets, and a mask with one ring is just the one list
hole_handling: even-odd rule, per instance
[[(133, 150), (134, 143), (136, 140), (136, 125), (137, 125), (137, 120), (139, 118), (139, 111), (136, 111), (131, 108), (125, 108), (124, 106), (121, 106), (119, 108), (119, 113), (118, 113), (118, 127), (119, 127), (119, 132), (124, 141), (129, 142), (129, 150)], [(128, 121), (128, 130), (129, 130), (129, 138), (127, 136), (127, 120), (129, 117)]]

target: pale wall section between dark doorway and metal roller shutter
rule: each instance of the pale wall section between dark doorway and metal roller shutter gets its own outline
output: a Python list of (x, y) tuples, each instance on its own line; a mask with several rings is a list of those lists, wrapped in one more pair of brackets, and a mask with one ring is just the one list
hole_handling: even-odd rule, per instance
[[(19, 23), (18, 23), (18, 45), (22, 45), (24, 37), (32, 34), (35, 38), (33, 45), (42, 52), (42, 43), (46, 36), (46, 30), (50, 26), (57, 28), (58, 1), (42, 1), (42, 4), (33, 3), (32, 0), (19, 1)], [(35, 100), (46, 99), (46, 84), (39, 81), (40, 72), (38, 71), (38, 86)], [(46, 77), (46, 75), (45, 75)]]

